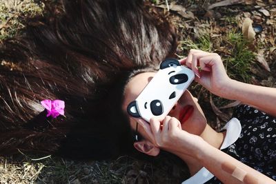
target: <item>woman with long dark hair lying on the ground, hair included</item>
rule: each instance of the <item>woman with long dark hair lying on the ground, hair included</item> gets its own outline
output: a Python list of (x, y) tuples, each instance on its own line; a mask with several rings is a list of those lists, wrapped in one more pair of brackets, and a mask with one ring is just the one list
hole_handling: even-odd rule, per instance
[[(242, 161), (267, 176), (275, 177), (274, 134), (270, 134), (268, 138), (266, 132), (259, 132), (253, 139), (250, 137), (248, 140), (242, 140), (243, 147), (241, 143), (239, 145), (234, 143), (235, 141), (226, 141), (224, 144), (228, 135), (232, 133), (217, 133), (212, 130), (206, 124), (197, 101), (188, 91), (169, 114), (175, 118), (170, 121), (168, 117), (161, 122), (164, 123), (164, 128), (167, 127), (166, 124), (177, 123), (180, 128), (179, 121), (182, 119), (179, 119), (179, 110), (184, 108), (184, 105), (191, 105), (189, 108), (193, 109), (193, 113), (187, 122), (181, 125), (185, 131), (173, 129), (180, 135), (174, 136), (179, 145), (183, 143), (186, 145), (184, 150), (179, 150), (180, 154), (178, 150), (175, 151), (179, 147), (178, 144), (174, 144), (175, 148), (171, 148), (168, 147), (170, 144), (164, 145), (158, 141), (160, 122), (152, 121), (150, 129), (141, 119), (130, 119), (127, 116), (128, 101), (135, 99), (141, 92), (148, 83), (148, 77), (155, 74), (161, 61), (174, 57), (177, 48), (176, 34), (168, 21), (162, 17), (151, 17), (145, 10), (143, 1), (79, 0), (64, 1), (63, 6), (63, 14), (30, 21), (26, 34), (5, 41), (1, 47), (0, 153), (2, 155), (15, 154), (21, 150), (21, 152), (57, 154), (73, 159), (110, 159), (121, 154), (133, 154), (135, 152), (133, 148), (156, 156), (159, 154), (159, 149), (164, 148), (186, 161), (192, 175), (205, 166), (221, 181), (232, 182), (242, 179), (246, 181), (248, 178), (254, 182), (263, 178), (264, 181), (271, 181), (262, 174), (255, 174), (239, 162)], [(198, 56), (191, 53), (181, 62), (197, 72), (194, 67), (197, 58), (202, 57), (203, 53), (205, 56), (206, 53), (199, 52)], [(210, 63), (206, 65), (210, 66), (212, 62), (217, 61), (213, 64), (216, 67), (209, 68), (210, 71), (205, 68), (206, 72), (200, 73), (202, 76), (197, 79), (199, 83), (217, 95), (228, 99), (239, 99), (268, 114), (276, 114), (269, 105), (275, 100), (273, 91), (254, 87), (260, 88), (259, 91), (252, 90), (253, 94), (250, 94), (247, 88), (244, 90), (244, 84), (235, 82), (235, 85), (232, 85), (232, 81), (228, 80), (225, 71), (222, 70), (219, 57), (216, 54), (207, 55)], [(210, 59), (214, 56), (215, 59)], [(205, 74), (212, 74), (211, 83), (205, 81), (208, 79)], [(221, 92), (219, 89), (224, 91)], [(233, 93), (233, 90), (237, 91)], [(246, 95), (243, 96), (245, 92)], [(262, 95), (255, 97), (258, 93)], [(46, 99), (65, 101), (64, 116), (48, 116), (48, 111), (41, 105), (41, 101)], [(262, 123), (267, 127), (264, 128), (267, 131), (268, 127), (273, 129), (274, 125), (272, 132), (275, 131), (273, 117), (262, 112), (255, 113), (249, 106), (244, 108), (241, 112), (237, 112), (237, 118), (242, 124)], [(246, 112), (253, 117), (247, 116)], [(137, 131), (144, 137), (141, 141), (135, 141), (136, 121), (139, 122)], [(169, 123), (166, 123), (167, 121)], [(234, 125), (231, 125), (234, 127), (238, 123), (236, 119), (230, 122), (234, 122)], [(254, 131), (254, 125), (243, 128), (253, 128)], [(255, 126), (258, 128), (262, 125)], [(263, 130), (261, 127), (258, 131)], [(266, 139), (266, 145), (273, 143), (263, 148), (266, 153), (257, 144), (260, 140), (257, 136), (261, 134)], [(242, 135), (250, 136), (246, 132), (240, 135), (235, 133), (236, 138)], [(197, 144), (194, 140), (198, 140)], [(233, 143), (237, 144), (237, 150)], [(257, 147), (251, 148), (251, 143), (255, 143)], [(227, 148), (229, 151), (226, 152), (235, 159), (219, 151), (217, 149), (219, 147)], [(251, 149), (255, 151), (251, 152), (253, 151)], [(210, 152), (215, 154), (212, 155)], [(250, 154), (251, 157), (247, 159), (244, 156), (246, 154)], [(208, 159), (204, 160), (201, 156), (207, 156)], [(253, 158), (252, 162), (250, 158)], [(266, 162), (259, 159), (264, 159)], [(208, 161), (214, 165), (210, 165)], [(230, 165), (229, 161), (233, 161), (237, 168), (230, 167), (233, 165)]]

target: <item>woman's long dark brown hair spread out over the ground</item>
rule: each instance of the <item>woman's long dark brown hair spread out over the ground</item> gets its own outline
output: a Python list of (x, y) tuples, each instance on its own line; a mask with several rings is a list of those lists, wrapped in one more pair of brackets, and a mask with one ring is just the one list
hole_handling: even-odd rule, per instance
[[(132, 70), (173, 57), (174, 28), (141, 0), (63, 1), (0, 48), (0, 154), (43, 152), (108, 159), (132, 150), (121, 112)], [(46, 118), (43, 99), (66, 102)]]

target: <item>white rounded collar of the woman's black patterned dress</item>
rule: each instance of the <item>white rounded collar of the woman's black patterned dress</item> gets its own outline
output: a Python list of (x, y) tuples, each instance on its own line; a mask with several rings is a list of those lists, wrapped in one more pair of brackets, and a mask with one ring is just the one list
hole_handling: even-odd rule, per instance
[[(225, 149), (229, 145), (232, 145), (237, 141), (239, 138), (239, 134), (242, 132), (242, 126), (241, 123), (239, 123), (239, 120), (236, 118), (230, 119), (226, 125), (221, 128), (221, 130), (226, 130), (226, 136), (224, 138), (224, 142), (222, 143), (220, 150)], [(205, 167), (202, 167), (199, 172), (197, 172), (194, 176), (188, 178), (188, 180), (182, 182), (181, 184), (201, 184), (206, 183), (206, 181), (209, 181), (211, 178), (213, 178), (214, 175), (210, 173)]]

